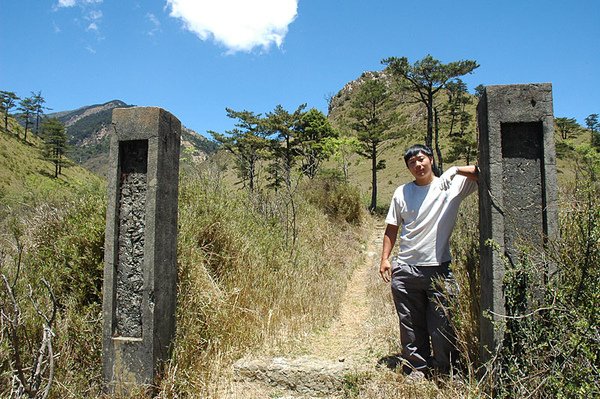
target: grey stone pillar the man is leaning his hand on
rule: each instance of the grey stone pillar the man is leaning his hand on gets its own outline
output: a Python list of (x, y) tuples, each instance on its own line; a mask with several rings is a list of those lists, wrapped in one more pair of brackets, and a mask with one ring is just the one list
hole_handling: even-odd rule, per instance
[(542, 249), (558, 231), (552, 85), (487, 86), (477, 119), (485, 361), (503, 339), (505, 262), (519, 260), (520, 243)]

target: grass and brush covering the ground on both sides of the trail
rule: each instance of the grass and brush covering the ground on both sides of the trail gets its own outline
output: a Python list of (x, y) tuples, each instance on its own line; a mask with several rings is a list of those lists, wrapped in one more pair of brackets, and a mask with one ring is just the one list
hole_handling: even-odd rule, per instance
[[(461, 286), (449, 309), (463, 353), (456, 377), (411, 385), (399, 372), (350, 375), (341, 397), (600, 395), (600, 157), (580, 144), (561, 147), (560, 237), (544, 252), (558, 273), (543, 287), (543, 297), (532, 298), (530, 288), (543, 267), (536, 263), (539, 257), (525, 256), (509, 270), (508, 299), (528, 306), (507, 319), (510, 339), (493, 361), (478, 362), (479, 235), (477, 198), (471, 196), (452, 246)], [(42, 394), (50, 362), (48, 356), (41, 363), (36, 359), (49, 319), (54, 364), (48, 397), (110, 397), (101, 380), (105, 185), (77, 167), (51, 178), (50, 165), (35, 158), (36, 145), (33, 137), (22, 144), (0, 132), (0, 397), (18, 391), (19, 366), (29, 396), (35, 397), (35, 389)], [(408, 180), (397, 155), (402, 151), (400, 145), (387, 153), (380, 173), (382, 208)], [(253, 194), (233, 184), (222, 162), (182, 168), (177, 336), (157, 381), (158, 397), (225, 398), (223, 386), (235, 360), (250, 352), (292, 352), (327, 326), (374, 220), (381, 222), (365, 211), (367, 160), (354, 160), (349, 185), (318, 179), (299, 182), (291, 193)], [(397, 320), (389, 311), (389, 290), (376, 277), (368, 294), (380, 327), (370, 339), (385, 342), (393, 353)]]

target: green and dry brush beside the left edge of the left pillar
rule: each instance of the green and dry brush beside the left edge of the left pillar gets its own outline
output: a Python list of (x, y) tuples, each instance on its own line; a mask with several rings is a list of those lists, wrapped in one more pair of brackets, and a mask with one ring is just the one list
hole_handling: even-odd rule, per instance
[[(0, 211), (0, 273), (12, 286), (18, 308), (3, 284), (0, 396), (10, 392), (15, 351), (25, 370), (38, 355), (35, 351), (44, 320), (34, 303), (46, 315), (52, 310), (42, 279), (49, 283), (58, 307), (52, 326), (53, 397), (94, 396), (99, 392), (103, 204), (103, 187), (96, 186), (72, 195), (36, 198), (33, 205)], [(20, 342), (18, 348), (9, 345), (14, 342), (9, 338), (12, 334)]]

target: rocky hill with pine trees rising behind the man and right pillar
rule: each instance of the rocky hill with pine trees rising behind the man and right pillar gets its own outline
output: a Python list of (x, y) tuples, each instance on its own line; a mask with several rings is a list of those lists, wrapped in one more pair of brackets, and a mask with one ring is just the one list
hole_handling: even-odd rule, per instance
[[(392, 63), (387, 65), (380, 71), (363, 72), (348, 82), (329, 98), (328, 112), (330, 123), (341, 136), (362, 136), (363, 148), (359, 146), (347, 154), (349, 180), (368, 195), (373, 187), (372, 166), (376, 165), (377, 206), (384, 208), (394, 189), (411, 178), (402, 159), (403, 151), (412, 144), (427, 141), (428, 115), (423, 101), (427, 84), (440, 86), (432, 97), (430, 145), (441, 170), (477, 162), (476, 106), (484, 90), (483, 86), (468, 88), (460, 77), (448, 79), (443, 85), (436, 82), (427, 71), (443, 71), (448, 64), (439, 64), (428, 57), (412, 66), (403, 65), (404, 74), (394, 73)], [(408, 79), (421, 79), (418, 81), (422, 86), (415, 88)], [(600, 149), (599, 131), (597, 114), (586, 118), (585, 127), (573, 118), (555, 116), (559, 182), (575, 177), (571, 160), (577, 157), (578, 149), (584, 152)], [(334, 159), (339, 159), (339, 154)]]

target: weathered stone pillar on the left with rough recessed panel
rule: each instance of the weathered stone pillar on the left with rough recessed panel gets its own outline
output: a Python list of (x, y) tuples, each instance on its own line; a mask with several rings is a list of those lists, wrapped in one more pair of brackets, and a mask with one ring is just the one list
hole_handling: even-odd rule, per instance
[(110, 392), (154, 382), (175, 335), (181, 123), (117, 108), (104, 249), (103, 375)]

